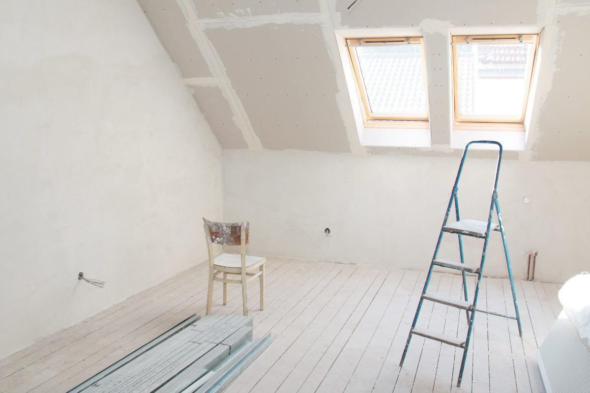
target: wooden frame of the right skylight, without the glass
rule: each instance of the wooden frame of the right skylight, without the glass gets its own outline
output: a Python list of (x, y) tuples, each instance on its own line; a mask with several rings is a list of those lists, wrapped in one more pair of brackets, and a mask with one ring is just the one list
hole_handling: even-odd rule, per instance
[[(522, 41), (521, 41), (522, 38)], [(491, 115), (481, 117), (481, 115), (461, 115), (459, 112), (459, 94), (458, 94), (458, 49), (457, 44), (484, 44), (486, 42), (494, 43), (529, 43), (533, 44), (532, 59), (529, 61), (526, 69), (525, 99), (523, 100), (522, 112), (520, 116)], [(453, 52), (453, 107), (454, 107), (454, 128), (469, 129), (506, 129), (506, 130), (524, 130), (526, 107), (529, 101), (530, 87), (533, 80), (533, 71), (537, 61), (537, 52), (539, 50), (539, 34), (490, 34), (490, 35), (453, 35), (451, 37), (451, 48)]]

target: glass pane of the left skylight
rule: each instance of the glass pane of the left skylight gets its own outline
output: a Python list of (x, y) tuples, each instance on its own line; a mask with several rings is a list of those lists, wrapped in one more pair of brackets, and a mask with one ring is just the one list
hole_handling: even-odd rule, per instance
[(372, 113), (426, 115), (419, 44), (356, 47)]

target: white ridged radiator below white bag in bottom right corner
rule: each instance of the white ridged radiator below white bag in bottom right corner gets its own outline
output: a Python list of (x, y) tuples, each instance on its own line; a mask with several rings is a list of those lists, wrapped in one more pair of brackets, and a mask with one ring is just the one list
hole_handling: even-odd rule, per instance
[(590, 393), (590, 348), (565, 311), (537, 352), (547, 393)]

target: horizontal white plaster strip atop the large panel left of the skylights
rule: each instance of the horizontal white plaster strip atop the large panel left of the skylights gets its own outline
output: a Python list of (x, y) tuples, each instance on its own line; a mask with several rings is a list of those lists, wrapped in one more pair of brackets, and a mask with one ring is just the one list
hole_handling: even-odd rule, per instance
[(290, 12), (287, 14), (272, 15), (255, 15), (255, 16), (224, 16), (223, 18), (205, 18), (198, 20), (202, 29), (211, 28), (249, 28), (258, 27), (268, 24), (282, 25), (286, 23), (301, 24), (320, 24), (322, 23), (322, 14), (317, 12)]

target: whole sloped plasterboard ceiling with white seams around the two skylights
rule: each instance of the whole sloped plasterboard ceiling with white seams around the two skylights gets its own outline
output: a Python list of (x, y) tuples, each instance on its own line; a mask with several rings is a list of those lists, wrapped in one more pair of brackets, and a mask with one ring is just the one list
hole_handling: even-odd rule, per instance
[[(448, 34), (542, 27), (527, 151), (590, 160), (590, 2), (550, 0), (138, 0), (224, 148), (454, 155)], [(421, 27), (433, 147), (360, 146), (334, 29)]]

